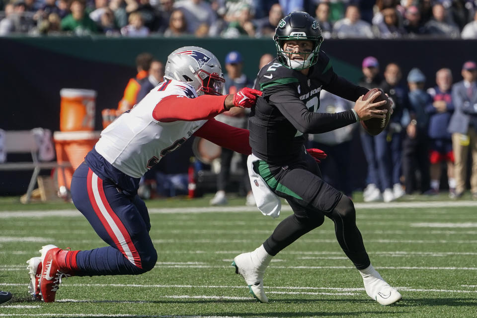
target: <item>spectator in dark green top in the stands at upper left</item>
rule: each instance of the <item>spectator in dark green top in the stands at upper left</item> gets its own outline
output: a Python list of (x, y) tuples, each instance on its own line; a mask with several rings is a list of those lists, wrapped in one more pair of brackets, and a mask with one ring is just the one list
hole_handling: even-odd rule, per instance
[(82, 0), (73, 0), (70, 10), (71, 14), (61, 21), (61, 29), (63, 31), (70, 31), (76, 35), (88, 35), (97, 32), (96, 23), (86, 14)]

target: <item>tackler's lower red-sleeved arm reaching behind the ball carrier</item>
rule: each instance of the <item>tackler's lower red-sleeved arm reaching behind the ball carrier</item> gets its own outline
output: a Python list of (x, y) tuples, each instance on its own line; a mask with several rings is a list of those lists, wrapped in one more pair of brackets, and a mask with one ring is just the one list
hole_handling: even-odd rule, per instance
[(249, 131), (247, 129), (232, 127), (215, 119), (208, 120), (202, 127), (194, 132), (194, 136), (202, 137), (221, 147), (245, 155), (252, 153), (252, 149), (248, 143), (248, 135)]

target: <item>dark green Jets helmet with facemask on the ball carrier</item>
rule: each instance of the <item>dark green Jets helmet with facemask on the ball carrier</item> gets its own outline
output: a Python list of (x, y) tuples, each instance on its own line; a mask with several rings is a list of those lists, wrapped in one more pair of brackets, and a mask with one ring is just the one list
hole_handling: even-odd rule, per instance
[[(277, 47), (278, 62), (291, 69), (305, 69), (318, 62), (318, 51), (323, 42), (318, 22), (307, 12), (295, 11), (280, 20), (273, 36)], [(312, 52), (288, 53), (283, 50), (286, 40), (308, 40), (313, 42)], [(303, 61), (290, 59), (292, 54), (303, 55)], [(306, 55), (308, 58), (305, 59)]]

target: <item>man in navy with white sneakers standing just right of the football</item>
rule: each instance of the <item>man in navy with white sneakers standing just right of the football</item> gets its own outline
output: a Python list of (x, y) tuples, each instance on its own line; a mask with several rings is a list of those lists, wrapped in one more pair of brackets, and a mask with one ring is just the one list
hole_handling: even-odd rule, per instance
[(401, 69), (390, 63), (384, 72), (384, 81), (380, 87), (393, 100), (393, 115), (388, 127), (374, 137), (378, 179), (383, 191), (383, 200), (390, 202), (404, 195), (400, 184), (401, 175), (401, 119), (404, 109), (408, 108), (406, 90), (400, 86)]

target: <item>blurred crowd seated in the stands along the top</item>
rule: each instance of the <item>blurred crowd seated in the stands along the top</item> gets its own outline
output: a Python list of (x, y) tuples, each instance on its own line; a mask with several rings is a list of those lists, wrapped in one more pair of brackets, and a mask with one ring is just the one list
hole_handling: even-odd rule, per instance
[(477, 0), (0, 0), (0, 36), (271, 37), (307, 11), (325, 38), (477, 38)]

